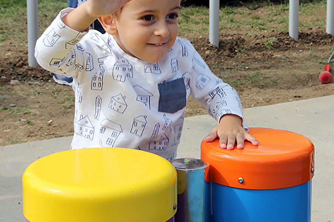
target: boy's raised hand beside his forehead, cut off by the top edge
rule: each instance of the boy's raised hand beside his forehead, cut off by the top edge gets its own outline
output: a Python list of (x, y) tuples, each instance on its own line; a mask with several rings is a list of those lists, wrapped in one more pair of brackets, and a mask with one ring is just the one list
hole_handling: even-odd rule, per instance
[(86, 13), (92, 18), (103, 15), (110, 15), (120, 9), (131, 0), (88, 0), (86, 3)]

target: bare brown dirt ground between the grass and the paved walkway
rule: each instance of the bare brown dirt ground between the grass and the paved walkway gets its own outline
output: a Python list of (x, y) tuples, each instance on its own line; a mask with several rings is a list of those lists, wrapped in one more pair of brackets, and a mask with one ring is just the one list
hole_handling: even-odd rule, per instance
[[(298, 40), (275, 30), (257, 35), (229, 30), (221, 32), (219, 49), (208, 36), (191, 42), (212, 71), (239, 92), (243, 108), (334, 94), (334, 84), (318, 79), (334, 42), (324, 27), (300, 30)], [(40, 67), (28, 67), (26, 45), (6, 40), (1, 48), (0, 145), (72, 135), (71, 87), (55, 84)], [(205, 113), (190, 98), (186, 116)]]

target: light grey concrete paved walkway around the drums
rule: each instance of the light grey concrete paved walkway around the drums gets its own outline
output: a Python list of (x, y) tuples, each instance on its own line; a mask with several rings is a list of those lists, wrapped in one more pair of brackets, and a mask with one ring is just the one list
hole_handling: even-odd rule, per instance
[[(244, 110), (249, 127), (286, 129), (308, 137), (315, 145), (312, 180), (312, 221), (334, 222), (334, 95)], [(200, 156), (202, 138), (215, 125), (208, 115), (185, 118), (177, 157)], [(71, 137), (0, 147), (0, 221), (24, 221), (21, 176), (39, 157), (67, 150)]]

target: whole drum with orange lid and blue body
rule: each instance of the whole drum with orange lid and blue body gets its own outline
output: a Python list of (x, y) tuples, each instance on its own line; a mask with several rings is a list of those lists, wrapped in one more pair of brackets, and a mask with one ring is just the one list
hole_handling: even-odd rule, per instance
[(202, 141), (206, 222), (310, 222), (314, 146), (285, 130), (250, 128), (259, 145)]

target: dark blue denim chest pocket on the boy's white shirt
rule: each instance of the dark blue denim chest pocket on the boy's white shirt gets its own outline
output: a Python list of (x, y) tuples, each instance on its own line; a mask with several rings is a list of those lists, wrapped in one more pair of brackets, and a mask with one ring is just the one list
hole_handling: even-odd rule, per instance
[(186, 106), (186, 87), (183, 78), (158, 84), (159, 112), (174, 113)]

